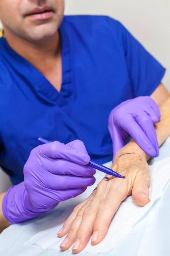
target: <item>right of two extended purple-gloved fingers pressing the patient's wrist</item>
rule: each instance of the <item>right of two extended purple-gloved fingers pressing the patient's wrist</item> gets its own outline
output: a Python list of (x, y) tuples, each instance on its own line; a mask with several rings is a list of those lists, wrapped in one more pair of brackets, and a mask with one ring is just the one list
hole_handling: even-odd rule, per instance
[(146, 134), (147, 138), (150, 140), (150, 143), (153, 145), (153, 148), (156, 151), (156, 154), (151, 156), (157, 157), (159, 155), (159, 144), (152, 119), (150, 119), (150, 116), (148, 116), (146, 112), (144, 112), (143, 115), (141, 114), (139, 116), (136, 116), (135, 119), (136, 122), (144, 131), (144, 134)]

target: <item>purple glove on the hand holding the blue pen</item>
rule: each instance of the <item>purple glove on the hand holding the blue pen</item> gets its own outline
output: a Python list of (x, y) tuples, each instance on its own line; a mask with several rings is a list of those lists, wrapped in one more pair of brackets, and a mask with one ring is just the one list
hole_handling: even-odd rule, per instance
[(34, 148), (24, 166), (24, 182), (12, 186), (3, 199), (5, 218), (11, 223), (26, 221), (81, 194), (95, 182), (96, 170), (87, 166), (89, 162), (80, 140)]

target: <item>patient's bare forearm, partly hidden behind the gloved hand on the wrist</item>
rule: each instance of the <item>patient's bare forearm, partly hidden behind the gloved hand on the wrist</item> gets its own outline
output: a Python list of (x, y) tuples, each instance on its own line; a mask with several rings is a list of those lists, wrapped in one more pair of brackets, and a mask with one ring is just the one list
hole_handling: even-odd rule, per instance
[[(155, 125), (156, 134), (159, 146), (164, 143), (164, 141), (170, 136), (170, 97), (160, 106), (161, 112), (161, 119)], [(119, 157), (121, 154), (126, 153), (138, 153), (141, 156), (146, 157), (149, 160), (149, 156), (147, 156), (144, 151), (136, 144), (136, 142), (132, 139), (130, 142), (122, 148), (116, 158)]]

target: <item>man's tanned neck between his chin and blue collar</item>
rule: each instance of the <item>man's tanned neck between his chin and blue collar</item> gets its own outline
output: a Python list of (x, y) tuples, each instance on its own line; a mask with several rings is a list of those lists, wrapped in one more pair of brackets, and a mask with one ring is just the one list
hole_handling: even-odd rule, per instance
[(43, 65), (45, 62), (55, 60), (61, 53), (59, 31), (52, 37), (41, 42), (28, 41), (25, 38), (14, 35), (8, 29), (4, 29), (4, 37), (15, 52), (28, 60), (35, 67), (40, 64)]

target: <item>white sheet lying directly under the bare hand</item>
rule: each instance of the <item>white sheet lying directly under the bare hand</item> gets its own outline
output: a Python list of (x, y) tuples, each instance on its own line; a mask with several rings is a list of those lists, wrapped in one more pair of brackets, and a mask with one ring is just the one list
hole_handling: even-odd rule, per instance
[[(110, 165), (111, 163), (107, 163), (106, 166)], [(82, 253), (107, 253), (114, 249), (116, 245), (118, 245), (122, 239), (124, 239), (125, 236), (130, 233), (133, 227), (138, 222), (140, 222), (142, 217), (147, 215), (146, 213), (150, 210), (151, 207), (153, 208), (156, 205), (154, 203), (158, 201), (163, 195), (164, 187), (170, 179), (169, 166), (170, 157), (164, 160), (160, 160), (150, 166), (150, 203), (145, 207), (139, 207), (134, 203), (131, 196), (128, 197), (125, 201), (122, 202), (121, 206), (116, 212), (116, 215), (111, 222), (108, 234), (105, 239), (96, 246), (91, 246), (91, 242), (89, 241), (88, 245), (85, 247)], [(62, 227), (64, 221), (69, 216), (74, 206), (87, 198), (88, 195), (90, 195), (90, 193), (96, 187), (96, 184), (99, 183), (99, 181), (104, 176), (105, 174), (97, 171), (96, 183), (94, 186), (88, 188), (86, 192), (79, 197), (59, 204), (59, 207), (57, 207), (55, 211), (56, 220), (52, 221), (50, 226), (47, 227), (45, 218), (43, 218), (43, 221), (41, 219), (37, 220), (37, 224), (40, 224), (40, 221), (42, 221), (42, 231), (31, 237), (31, 239), (29, 239), (25, 245), (37, 244), (44, 249), (52, 248), (54, 250), (60, 250), (59, 245), (63, 241), (63, 238), (60, 239), (57, 237), (58, 230)], [(46, 218), (48, 218), (48, 216)], [(71, 250), (71, 248), (69, 250)]]

